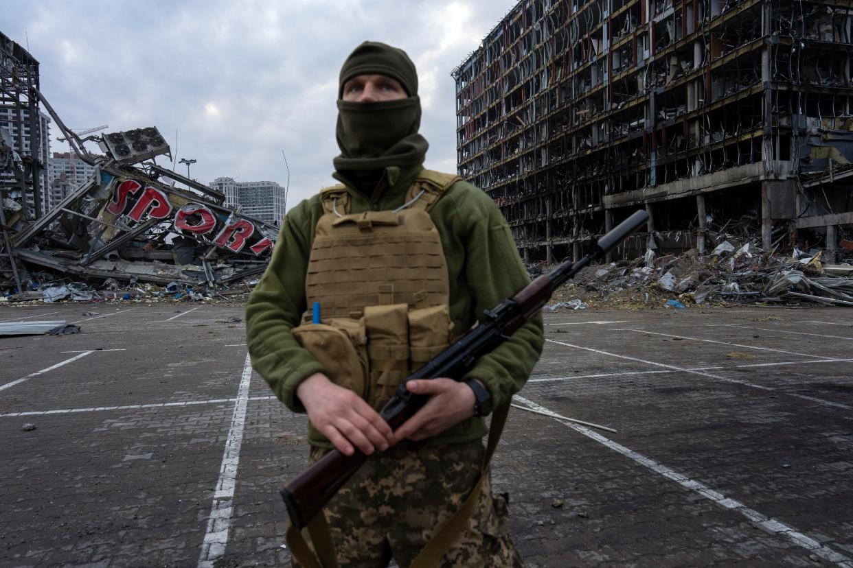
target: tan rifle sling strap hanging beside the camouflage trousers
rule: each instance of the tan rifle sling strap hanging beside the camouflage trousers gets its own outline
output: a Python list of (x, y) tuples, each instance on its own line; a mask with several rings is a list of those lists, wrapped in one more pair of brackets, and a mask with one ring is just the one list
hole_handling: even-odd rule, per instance
[[(409, 568), (432, 568), (432, 566), (438, 566), (447, 549), (465, 531), (468, 519), (471, 519), (480, 493), (483, 491), (483, 482), (486, 474), (489, 472), (491, 456), (495, 453), (497, 443), (501, 439), (503, 425), (507, 422), (509, 402), (507, 401), (498, 406), (491, 417), (489, 441), (486, 445), (485, 456), (483, 456), (483, 468), (473, 490), (468, 494), (461, 508), (436, 531), (435, 535), (427, 542), (427, 546), (421, 549), (421, 552), (412, 560)], [(305, 542), (305, 537), (302, 536), (302, 533), (297, 531), (289, 522), (287, 523), (287, 548), (290, 549), (290, 554), (293, 554), (293, 558), (300, 565), (305, 566), (305, 568), (338, 568), (338, 560), (334, 554), (332, 533), (329, 531), (326, 515), (322, 511), (317, 513), (313, 519), (310, 519), (308, 532), (311, 536), (311, 542), (314, 544), (314, 550), (317, 551), (316, 556), (309, 548), (308, 543)]]

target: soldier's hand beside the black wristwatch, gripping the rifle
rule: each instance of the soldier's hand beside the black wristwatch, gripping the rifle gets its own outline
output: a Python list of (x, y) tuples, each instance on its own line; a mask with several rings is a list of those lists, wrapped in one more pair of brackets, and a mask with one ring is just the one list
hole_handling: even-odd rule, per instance
[(428, 394), (430, 398), (415, 416), (397, 428), (394, 443), (407, 438), (415, 441), (432, 438), (474, 416), (474, 393), (464, 382), (444, 378), (409, 381), (406, 388), (411, 393)]

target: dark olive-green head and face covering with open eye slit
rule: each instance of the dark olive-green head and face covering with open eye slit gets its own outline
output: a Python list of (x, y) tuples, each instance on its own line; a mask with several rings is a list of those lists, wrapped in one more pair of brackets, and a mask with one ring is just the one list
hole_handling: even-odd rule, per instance
[[(374, 74), (397, 79), (409, 96), (367, 103), (341, 100), (344, 83), (357, 75)], [(340, 155), (334, 158), (334, 168), (367, 174), (389, 166), (408, 168), (423, 164), (429, 144), (418, 134), (420, 127), (418, 75), (409, 55), (385, 43), (359, 45), (340, 69), (335, 133)]]

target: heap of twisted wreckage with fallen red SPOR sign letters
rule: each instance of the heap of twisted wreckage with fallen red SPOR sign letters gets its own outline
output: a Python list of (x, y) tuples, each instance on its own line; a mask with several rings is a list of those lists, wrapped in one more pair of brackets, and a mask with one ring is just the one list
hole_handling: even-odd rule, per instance
[[(63, 129), (61, 121), (55, 121)], [(73, 140), (73, 133), (67, 133)], [(38, 216), (0, 199), (4, 301), (210, 300), (245, 295), (278, 228), (224, 204), (223, 193), (156, 163), (171, 151), (153, 127), (73, 145), (95, 175)], [(90, 140), (86, 139), (86, 140)], [(23, 174), (14, 163), (8, 174)]]

